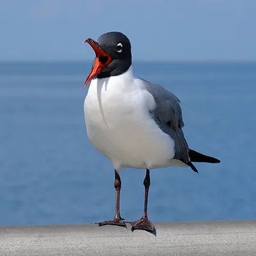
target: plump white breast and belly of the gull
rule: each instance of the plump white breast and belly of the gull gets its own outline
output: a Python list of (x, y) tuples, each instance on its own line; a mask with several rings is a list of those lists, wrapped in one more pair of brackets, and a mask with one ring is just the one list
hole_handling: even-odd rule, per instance
[(155, 104), (131, 68), (92, 80), (84, 100), (88, 138), (116, 170), (164, 167), (174, 156), (174, 141), (150, 118)]

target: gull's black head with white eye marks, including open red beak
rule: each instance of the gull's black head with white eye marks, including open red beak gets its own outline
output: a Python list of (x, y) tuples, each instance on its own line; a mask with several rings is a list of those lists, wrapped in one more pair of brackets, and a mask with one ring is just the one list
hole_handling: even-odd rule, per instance
[(118, 76), (131, 67), (131, 43), (124, 34), (109, 32), (101, 35), (97, 42), (90, 38), (84, 42), (88, 42), (96, 54), (92, 72), (84, 85), (96, 76), (98, 78)]

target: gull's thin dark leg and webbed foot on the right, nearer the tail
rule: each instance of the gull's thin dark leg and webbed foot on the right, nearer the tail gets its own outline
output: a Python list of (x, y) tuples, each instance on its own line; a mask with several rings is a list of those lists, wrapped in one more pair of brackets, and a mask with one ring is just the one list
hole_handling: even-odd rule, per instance
[(148, 220), (148, 190), (150, 186), (150, 175), (148, 169), (143, 184), (145, 186), (145, 202), (143, 216), (140, 220), (131, 222), (131, 230), (133, 231), (135, 229), (142, 229), (151, 233), (155, 233), (156, 228), (154, 227), (153, 223), (150, 220)]

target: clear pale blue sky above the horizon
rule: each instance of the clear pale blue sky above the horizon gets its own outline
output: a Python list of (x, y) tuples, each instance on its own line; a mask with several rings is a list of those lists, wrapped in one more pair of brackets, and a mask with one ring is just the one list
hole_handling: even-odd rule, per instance
[(120, 31), (139, 61), (256, 61), (255, 0), (2, 0), (0, 61), (87, 61)]

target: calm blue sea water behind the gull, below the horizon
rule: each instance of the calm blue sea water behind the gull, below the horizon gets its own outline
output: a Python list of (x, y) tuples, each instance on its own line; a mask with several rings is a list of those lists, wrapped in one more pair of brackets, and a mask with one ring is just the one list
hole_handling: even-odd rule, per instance
[[(91, 63), (0, 64), (0, 226), (94, 223), (115, 209), (111, 163), (88, 141)], [(152, 221), (256, 218), (256, 65), (134, 63), (182, 102), (189, 146), (221, 164), (152, 170)], [(143, 211), (144, 170), (122, 171), (121, 214)]]

